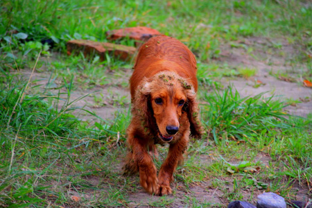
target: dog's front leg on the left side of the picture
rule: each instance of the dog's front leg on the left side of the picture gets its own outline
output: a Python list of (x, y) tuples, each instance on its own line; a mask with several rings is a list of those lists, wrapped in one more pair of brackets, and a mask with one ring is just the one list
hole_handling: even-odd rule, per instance
[(148, 144), (144, 139), (133, 137), (131, 140), (132, 159), (139, 167), (140, 184), (148, 193), (158, 195), (157, 169), (148, 153)]

